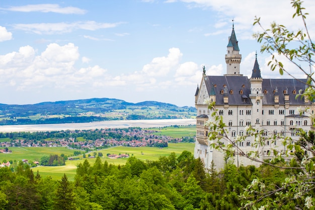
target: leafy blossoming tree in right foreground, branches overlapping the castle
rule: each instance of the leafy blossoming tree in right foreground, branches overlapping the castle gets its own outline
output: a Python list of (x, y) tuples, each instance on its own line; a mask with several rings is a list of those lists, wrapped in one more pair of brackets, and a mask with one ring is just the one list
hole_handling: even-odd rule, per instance
[[(261, 24), (260, 18), (255, 18), (254, 25), (258, 25), (263, 30), (262, 33), (254, 34), (254, 37), (259, 43), (262, 43), (261, 52), (269, 53), (272, 60), (268, 65), (272, 71), (279, 71), (280, 75), (284, 73), (294, 78), (288, 69), (291, 66), (296, 66), (299, 71), (307, 76), (305, 83), (305, 90), (300, 90), (296, 97), (308, 99), (313, 102), (315, 100), (315, 86), (313, 78), (315, 43), (312, 41), (312, 35), (306, 24), (307, 13), (302, 6), (301, 0), (291, 0), (292, 8), (294, 9), (293, 19), (299, 18), (301, 20), (301, 28), (296, 31), (290, 31), (284, 25), (271, 24), (270, 28), (265, 29)], [(290, 65), (285, 65), (280, 58), (287, 59)], [(296, 79), (296, 78), (294, 78)], [(209, 109), (215, 110), (215, 103), (209, 101)], [(310, 111), (310, 110), (305, 110)], [(302, 114), (299, 111), (299, 114)], [(310, 112), (312, 122), (315, 122), (315, 114)], [(217, 150), (225, 152), (226, 157), (233, 157), (233, 155), (242, 155), (250, 160), (260, 162), (270, 167), (278, 168), (287, 171), (287, 178), (276, 185), (270, 183), (267, 186), (266, 181), (256, 177), (252, 179), (251, 183), (246, 187), (242, 198), (243, 208), (247, 209), (315, 209), (314, 198), (314, 183), (315, 183), (315, 168), (314, 156), (315, 147), (314, 135), (309, 136), (304, 134), (302, 130), (296, 130), (301, 139), (293, 141), (289, 136), (283, 138), (280, 135), (274, 135), (266, 139), (263, 135), (263, 130), (257, 131), (251, 126), (248, 126), (244, 136), (237, 136), (236, 141), (231, 141), (228, 131), (225, 129), (222, 116), (215, 111), (213, 112), (213, 120), (209, 121), (209, 139), (214, 141), (211, 145)], [(251, 152), (243, 152), (242, 148), (238, 146), (239, 142), (245, 141), (247, 136), (254, 136), (255, 142), (252, 144), (254, 150)], [(222, 139), (226, 139), (228, 144), (220, 144)], [(274, 148), (270, 162), (263, 162), (259, 160), (261, 155), (259, 148), (266, 144), (266, 141), (275, 143), (281, 141), (285, 147), (285, 151), (278, 151)], [(290, 163), (283, 163), (283, 158), (290, 158)]]

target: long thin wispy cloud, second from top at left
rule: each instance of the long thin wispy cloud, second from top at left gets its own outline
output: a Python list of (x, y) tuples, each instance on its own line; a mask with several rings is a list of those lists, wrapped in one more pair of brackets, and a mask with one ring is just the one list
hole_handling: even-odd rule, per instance
[(114, 28), (120, 23), (98, 23), (95, 21), (78, 21), (73, 23), (32, 23), (32, 24), (15, 24), (13, 27), (18, 30), (29, 31), (36, 34), (62, 34), (69, 33), (73, 30), (95, 31), (98, 29)]

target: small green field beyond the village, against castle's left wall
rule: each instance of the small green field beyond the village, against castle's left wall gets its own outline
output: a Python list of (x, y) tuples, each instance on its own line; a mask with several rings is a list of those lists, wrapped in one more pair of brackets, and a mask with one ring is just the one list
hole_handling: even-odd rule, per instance
[(157, 132), (154, 132), (154, 135), (167, 135), (174, 138), (193, 137), (196, 135), (196, 125), (149, 128), (149, 130), (156, 130)]

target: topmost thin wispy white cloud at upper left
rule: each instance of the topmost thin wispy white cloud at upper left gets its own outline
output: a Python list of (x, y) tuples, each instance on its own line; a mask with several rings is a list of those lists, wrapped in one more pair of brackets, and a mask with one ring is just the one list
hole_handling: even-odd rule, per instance
[(75, 7), (60, 7), (55, 4), (39, 4), (39, 5), (25, 5), (19, 7), (1, 8), (1, 10), (14, 12), (42, 12), (42, 13), (61, 13), (61, 14), (85, 14), (87, 11)]

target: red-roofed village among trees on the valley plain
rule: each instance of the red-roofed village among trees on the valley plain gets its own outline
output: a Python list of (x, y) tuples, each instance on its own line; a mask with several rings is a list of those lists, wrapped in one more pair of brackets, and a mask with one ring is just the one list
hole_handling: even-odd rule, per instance
[[(11, 139), (10, 142), (1, 142), (0, 147), (67, 147), (69, 149), (85, 150), (86, 152), (109, 147), (124, 146), (124, 147), (167, 147), (168, 143), (181, 143), (184, 137), (174, 138), (166, 135), (157, 135), (155, 130), (140, 129), (140, 128), (124, 128), (124, 129), (101, 129), (101, 130), (75, 130), (75, 131), (60, 131), (66, 133), (63, 138), (50, 139), (23, 139), (17, 137)], [(101, 132), (99, 138), (95, 138), (95, 133)], [(48, 133), (48, 131), (47, 131)], [(86, 133), (91, 134), (91, 139)], [(155, 133), (155, 134), (153, 134)], [(10, 134), (9, 134), (10, 136)], [(95, 138), (95, 139), (94, 139)], [(78, 140), (80, 139), (80, 141)], [(193, 141), (193, 139), (191, 139)], [(8, 152), (5, 149), (0, 150), (0, 153)]]

